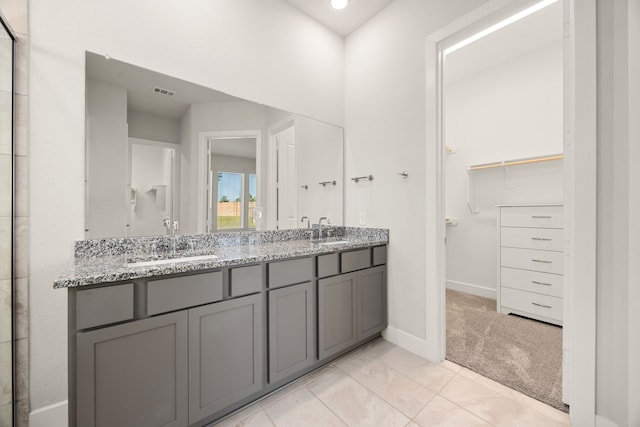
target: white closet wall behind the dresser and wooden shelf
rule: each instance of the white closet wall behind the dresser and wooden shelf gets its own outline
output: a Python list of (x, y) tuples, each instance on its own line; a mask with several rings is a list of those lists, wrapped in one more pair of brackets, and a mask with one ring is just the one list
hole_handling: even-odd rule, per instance
[[(464, 72), (452, 66), (468, 67), (447, 59), (445, 78)], [(445, 156), (446, 214), (459, 221), (447, 227), (447, 286), (495, 298), (497, 205), (562, 202), (562, 161), (472, 172), (478, 214), (467, 206), (466, 168), (562, 153), (562, 45), (466, 74), (444, 90), (446, 144), (455, 150)]]

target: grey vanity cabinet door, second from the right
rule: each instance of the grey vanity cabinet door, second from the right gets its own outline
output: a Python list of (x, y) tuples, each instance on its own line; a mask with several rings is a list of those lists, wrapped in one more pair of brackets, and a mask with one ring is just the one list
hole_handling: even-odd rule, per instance
[(357, 342), (356, 273), (318, 280), (318, 358)]

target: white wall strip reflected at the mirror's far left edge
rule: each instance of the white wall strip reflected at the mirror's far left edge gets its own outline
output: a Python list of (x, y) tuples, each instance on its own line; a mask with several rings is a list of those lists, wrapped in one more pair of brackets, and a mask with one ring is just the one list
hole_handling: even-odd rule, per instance
[[(127, 235), (127, 92), (87, 81), (87, 235)], [(51, 189), (56, 193), (55, 189)]]

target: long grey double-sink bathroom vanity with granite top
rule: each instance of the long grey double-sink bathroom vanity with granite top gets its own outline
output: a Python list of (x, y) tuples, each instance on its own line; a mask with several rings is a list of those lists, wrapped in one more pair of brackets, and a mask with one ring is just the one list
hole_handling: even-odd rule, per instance
[(202, 426), (379, 336), (388, 232), (333, 236), (189, 236), (197, 253), (170, 260), (140, 250), (162, 237), (78, 242), (54, 284), (68, 290), (69, 424)]

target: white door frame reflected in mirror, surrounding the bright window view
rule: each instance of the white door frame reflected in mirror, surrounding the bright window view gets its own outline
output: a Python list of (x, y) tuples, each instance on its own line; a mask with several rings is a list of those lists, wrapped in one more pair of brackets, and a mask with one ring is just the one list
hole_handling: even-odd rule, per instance
[[(256, 140), (256, 206), (262, 206), (262, 189), (264, 177), (262, 176), (262, 131), (261, 130), (227, 130), (227, 131), (204, 131), (198, 133), (198, 176), (197, 182), (197, 217), (196, 232), (206, 233), (207, 225), (207, 205), (205, 194), (207, 188), (207, 171), (209, 168), (208, 148), (210, 139), (233, 139), (252, 138)], [(264, 215), (264, 213), (263, 213)], [(264, 216), (263, 221), (264, 223)], [(256, 230), (260, 230), (260, 224), (256, 223)]]

